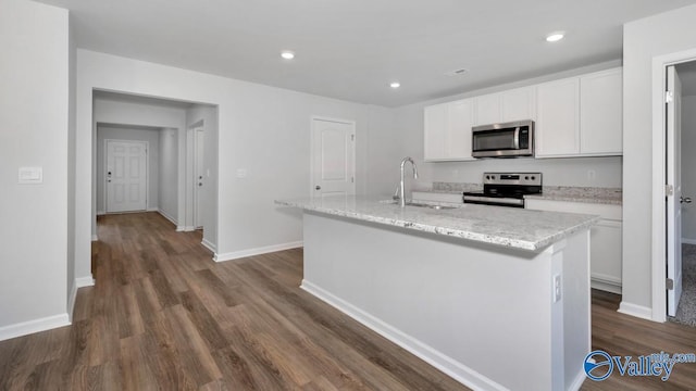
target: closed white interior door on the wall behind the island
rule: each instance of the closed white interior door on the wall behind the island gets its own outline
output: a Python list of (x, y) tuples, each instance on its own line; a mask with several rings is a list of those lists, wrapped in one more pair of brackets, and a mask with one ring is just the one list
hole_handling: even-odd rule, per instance
[(312, 119), (312, 194), (355, 194), (355, 124)]

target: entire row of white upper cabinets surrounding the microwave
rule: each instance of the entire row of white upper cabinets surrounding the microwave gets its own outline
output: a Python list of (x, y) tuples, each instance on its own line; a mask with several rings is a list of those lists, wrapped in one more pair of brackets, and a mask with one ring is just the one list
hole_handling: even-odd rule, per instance
[(621, 68), (425, 108), (425, 161), (471, 157), (471, 127), (535, 121), (536, 157), (622, 153)]

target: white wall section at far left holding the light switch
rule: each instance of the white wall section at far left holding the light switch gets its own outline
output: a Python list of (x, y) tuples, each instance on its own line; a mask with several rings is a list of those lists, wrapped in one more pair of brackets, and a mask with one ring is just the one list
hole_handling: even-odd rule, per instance
[[(0, 339), (5, 339), (69, 321), (67, 11), (1, 1), (0, 48), (0, 216), (5, 222), (0, 227)], [(18, 185), (23, 166), (42, 167), (44, 182)]]

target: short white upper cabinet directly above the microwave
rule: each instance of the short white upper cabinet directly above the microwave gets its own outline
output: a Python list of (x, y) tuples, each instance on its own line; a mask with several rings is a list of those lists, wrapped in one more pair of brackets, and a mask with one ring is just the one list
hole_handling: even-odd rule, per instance
[(474, 98), (474, 125), (536, 119), (534, 87), (515, 88)]

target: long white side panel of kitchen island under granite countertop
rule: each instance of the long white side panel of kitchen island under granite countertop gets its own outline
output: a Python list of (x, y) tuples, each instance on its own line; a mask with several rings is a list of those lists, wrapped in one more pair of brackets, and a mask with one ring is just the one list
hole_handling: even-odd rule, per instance
[(532, 253), (306, 212), (302, 288), (470, 387), (559, 389), (559, 341), (589, 336), (562, 335), (563, 300), (551, 295), (566, 262), (558, 249)]

